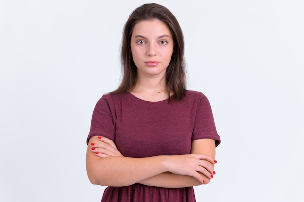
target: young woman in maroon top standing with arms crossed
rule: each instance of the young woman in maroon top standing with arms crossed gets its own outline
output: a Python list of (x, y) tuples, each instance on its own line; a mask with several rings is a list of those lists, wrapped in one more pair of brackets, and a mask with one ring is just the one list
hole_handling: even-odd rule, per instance
[(123, 79), (93, 111), (86, 168), (101, 202), (195, 202), (220, 144), (207, 98), (186, 90), (184, 40), (173, 14), (144, 4), (127, 20)]

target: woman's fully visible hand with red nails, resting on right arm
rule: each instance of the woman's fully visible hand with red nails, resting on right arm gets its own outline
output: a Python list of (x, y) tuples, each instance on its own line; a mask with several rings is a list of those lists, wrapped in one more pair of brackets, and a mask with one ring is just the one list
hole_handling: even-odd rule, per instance
[(209, 179), (215, 174), (213, 168), (216, 161), (206, 154), (173, 155), (165, 162), (169, 172), (195, 177), (201, 183), (205, 183), (205, 180), (200, 173)]

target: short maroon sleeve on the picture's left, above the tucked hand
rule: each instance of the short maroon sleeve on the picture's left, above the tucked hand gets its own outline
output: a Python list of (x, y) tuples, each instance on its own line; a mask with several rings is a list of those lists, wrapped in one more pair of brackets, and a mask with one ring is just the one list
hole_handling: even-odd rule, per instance
[(88, 134), (86, 143), (93, 136), (104, 136), (114, 141), (115, 139), (115, 116), (111, 107), (111, 97), (103, 95), (95, 105), (93, 110), (91, 129)]

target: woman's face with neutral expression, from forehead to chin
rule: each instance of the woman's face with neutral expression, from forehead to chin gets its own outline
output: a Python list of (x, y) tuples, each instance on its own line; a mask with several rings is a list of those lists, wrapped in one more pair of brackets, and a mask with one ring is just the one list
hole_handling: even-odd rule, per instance
[(137, 76), (164, 77), (173, 53), (173, 37), (160, 20), (138, 22), (131, 36), (131, 52)]

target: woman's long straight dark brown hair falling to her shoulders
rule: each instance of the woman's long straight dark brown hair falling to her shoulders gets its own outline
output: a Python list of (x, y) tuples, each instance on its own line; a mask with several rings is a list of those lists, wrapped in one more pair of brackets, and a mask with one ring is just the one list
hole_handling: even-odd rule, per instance
[(173, 93), (175, 100), (181, 100), (186, 91), (183, 32), (175, 16), (166, 7), (156, 3), (144, 4), (136, 8), (129, 16), (124, 26), (121, 47), (123, 77), (118, 89), (110, 93), (129, 92), (135, 87), (137, 67), (131, 54), (131, 35), (138, 22), (153, 19), (164, 22), (173, 36), (174, 50), (166, 69), (166, 87), (169, 101), (171, 93)]

